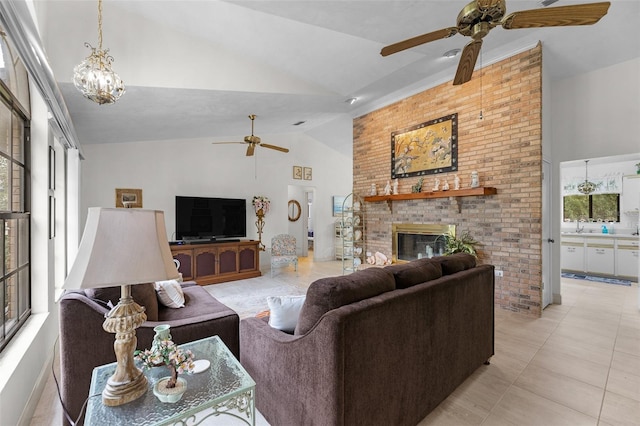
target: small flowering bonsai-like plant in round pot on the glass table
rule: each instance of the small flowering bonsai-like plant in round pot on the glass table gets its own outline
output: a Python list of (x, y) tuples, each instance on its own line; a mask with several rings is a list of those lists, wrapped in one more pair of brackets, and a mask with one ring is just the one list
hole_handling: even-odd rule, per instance
[(154, 385), (153, 393), (162, 402), (177, 402), (187, 390), (187, 381), (178, 377), (180, 373), (192, 373), (195, 365), (193, 353), (180, 349), (170, 339), (154, 341), (151, 349), (137, 350), (135, 359), (145, 369), (167, 366), (171, 376), (163, 377)]

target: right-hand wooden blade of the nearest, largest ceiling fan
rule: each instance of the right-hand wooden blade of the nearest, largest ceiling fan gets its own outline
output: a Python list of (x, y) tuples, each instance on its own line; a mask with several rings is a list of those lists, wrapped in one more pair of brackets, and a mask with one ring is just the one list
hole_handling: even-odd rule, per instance
[(549, 7), (546, 9), (513, 12), (502, 19), (502, 28), (564, 27), (571, 25), (593, 25), (609, 10), (610, 2)]

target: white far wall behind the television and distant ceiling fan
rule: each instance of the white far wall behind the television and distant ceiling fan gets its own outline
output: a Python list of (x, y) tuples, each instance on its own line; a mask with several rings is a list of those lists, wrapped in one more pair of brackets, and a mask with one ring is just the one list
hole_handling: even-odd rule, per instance
[[(257, 148), (254, 157), (246, 157), (246, 146), (214, 145), (211, 139), (83, 145), (86, 159), (82, 164), (82, 223), (88, 207), (114, 206), (115, 188), (141, 188), (143, 207), (165, 212), (170, 240), (175, 230), (176, 195), (247, 199), (247, 238), (257, 239), (250, 202), (254, 195), (265, 195), (271, 200), (262, 236), (268, 246), (272, 236), (289, 230), (288, 186), (312, 186), (316, 194), (315, 260), (330, 260), (331, 196), (351, 191), (351, 157), (304, 134), (260, 137), (263, 142), (287, 147), (290, 152)], [(313, 179), (293, 179), (294, 165), (312, 167)], [(262, 265), (269, 263), (267, 257), (262, 256)]]

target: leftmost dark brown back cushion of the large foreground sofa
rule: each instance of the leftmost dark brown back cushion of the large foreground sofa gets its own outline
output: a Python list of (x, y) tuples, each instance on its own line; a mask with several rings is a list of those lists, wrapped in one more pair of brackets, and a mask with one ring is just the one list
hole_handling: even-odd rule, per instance
[(395, 286), (393, 274), (386, 268), (367, 268), (350, 275), (316, 280), (307, 290), (295, 334), (307, 333), (332, 309), (395, 290)]

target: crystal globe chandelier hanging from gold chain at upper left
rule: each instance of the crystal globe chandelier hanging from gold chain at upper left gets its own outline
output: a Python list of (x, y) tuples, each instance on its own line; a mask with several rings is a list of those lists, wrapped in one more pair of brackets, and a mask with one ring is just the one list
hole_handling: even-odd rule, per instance
[(115, 103), (125, 88), (120, 76), (111, 69), (113, 57), (102, 49), (102, 0), (98, 0), (98, 47), (84, 44), (91, 54), (73, 69), (73, 84), (86, 97), (99, 105)]

